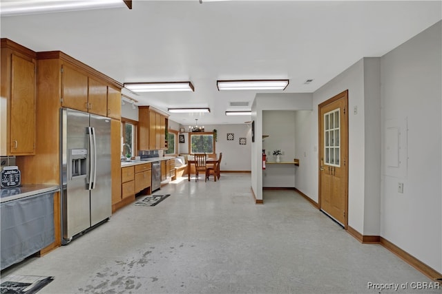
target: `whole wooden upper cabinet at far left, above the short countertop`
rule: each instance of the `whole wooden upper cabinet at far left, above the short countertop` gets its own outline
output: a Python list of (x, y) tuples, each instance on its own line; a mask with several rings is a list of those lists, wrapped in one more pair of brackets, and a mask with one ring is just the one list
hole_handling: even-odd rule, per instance
[(1, 39), (0, 155), (35, 154), (35, 52)]

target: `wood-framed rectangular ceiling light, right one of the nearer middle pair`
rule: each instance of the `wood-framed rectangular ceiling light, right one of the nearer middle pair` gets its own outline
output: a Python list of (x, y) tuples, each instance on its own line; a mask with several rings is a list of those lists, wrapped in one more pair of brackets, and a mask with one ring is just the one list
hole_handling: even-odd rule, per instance
[(289, 80), (236, 80), (216, 81), (218, 91), (222, 90), (285, 90)]

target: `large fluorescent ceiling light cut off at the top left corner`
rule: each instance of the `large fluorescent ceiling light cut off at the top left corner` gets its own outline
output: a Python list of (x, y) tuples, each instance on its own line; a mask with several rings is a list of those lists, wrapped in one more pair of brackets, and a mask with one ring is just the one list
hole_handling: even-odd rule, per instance
[(122, 0), (1, 1), (1, 16), (125, 7)]

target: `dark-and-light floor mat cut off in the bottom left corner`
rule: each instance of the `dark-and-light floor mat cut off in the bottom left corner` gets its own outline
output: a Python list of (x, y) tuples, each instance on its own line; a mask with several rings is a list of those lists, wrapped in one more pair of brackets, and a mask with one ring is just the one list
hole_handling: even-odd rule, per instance
[(33, 294), (54, 280), (38, 275), (8, 275), (1, 278), (0, 294)]

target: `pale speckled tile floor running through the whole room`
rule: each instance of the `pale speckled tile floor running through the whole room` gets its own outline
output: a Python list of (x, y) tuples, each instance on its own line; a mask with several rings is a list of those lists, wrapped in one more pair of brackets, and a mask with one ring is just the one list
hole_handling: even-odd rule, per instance
[(130, 204), (2, 277), (54, 276), (39, 293), (441, 293), (412, 288), (432, 281), (382, 246), (359, 243), (294, 191), (265, 191), (265, 204), (254, 204), (250, 174), (182, 178), (160, 193), (171, 196)]

